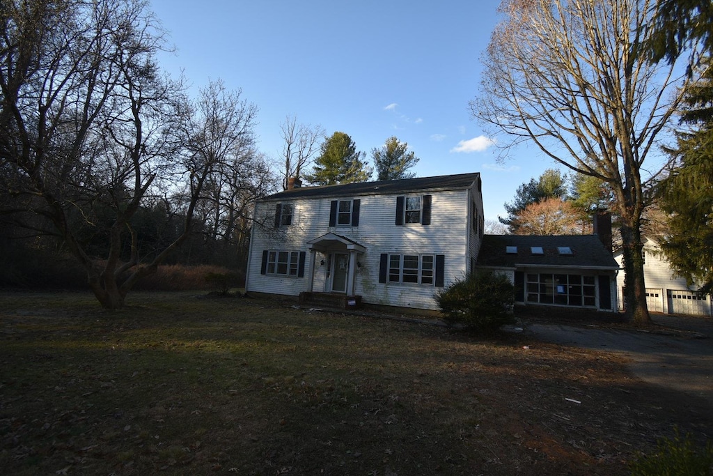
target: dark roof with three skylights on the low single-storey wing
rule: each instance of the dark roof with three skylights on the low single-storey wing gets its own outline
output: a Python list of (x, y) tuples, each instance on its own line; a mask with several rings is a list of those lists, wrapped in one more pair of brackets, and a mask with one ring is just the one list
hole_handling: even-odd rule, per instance
[[(533, 253), (541, 247), (543, 253)], [(506, 247), (515, 247), (508, 253)], [(558, 248), (570, 248), (560, 253)], [(513, 248), (510, 249), (513, 251)], [(563, 250), (564, 251), (564, 250)], [(521, 266), (552, 266), (567, 268), (618, 269), (619, 265), (596, 235), (520, 236), (485, 235), (478, 253), (478, 265), (515, 268)]]

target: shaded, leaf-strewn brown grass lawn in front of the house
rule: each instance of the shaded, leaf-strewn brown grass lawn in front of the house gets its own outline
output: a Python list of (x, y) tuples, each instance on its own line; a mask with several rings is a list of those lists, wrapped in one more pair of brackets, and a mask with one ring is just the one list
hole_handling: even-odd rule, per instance
[(0, 294), (6, 474), (625, 475), (674, 425), (711, 430), (601, 353), (266, 300), (128, 304)]

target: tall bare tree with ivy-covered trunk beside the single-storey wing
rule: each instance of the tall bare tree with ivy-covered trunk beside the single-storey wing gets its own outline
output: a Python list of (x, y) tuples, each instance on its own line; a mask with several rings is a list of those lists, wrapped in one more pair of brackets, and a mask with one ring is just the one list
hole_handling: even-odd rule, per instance
[[(481, 93), (471, 111), (498, 144), (528, 141), (573, 171), (605, 181), (623, 241), (627, 317), (647, 323), (641, 217), (656, 138), (687, 88), (676, 65), (652, 65), (646, 40), (652, 0), (504, 0)], [(651, 160), (647, 163), (652, 162)]]

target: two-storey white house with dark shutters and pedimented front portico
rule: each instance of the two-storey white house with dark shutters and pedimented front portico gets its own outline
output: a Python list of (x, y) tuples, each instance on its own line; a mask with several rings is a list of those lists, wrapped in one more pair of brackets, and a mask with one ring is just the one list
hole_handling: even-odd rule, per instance
[(475, 266), (478, 173), (288, 187), (255, 205), (247, 293), (435, 310), (434, 293)]

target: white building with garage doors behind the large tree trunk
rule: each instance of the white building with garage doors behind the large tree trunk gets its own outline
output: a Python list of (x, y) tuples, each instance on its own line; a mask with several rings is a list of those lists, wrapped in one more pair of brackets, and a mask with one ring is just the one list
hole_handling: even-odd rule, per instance
[[(622, 265), (622, 251), (617, 250), (614, 258)], [(666, 314), (688, 314), (713, 316), (712, 296), (698, 295), (688, 288), (684, 278), (674, 276), (669, 263), (660, 253), (658, 243), (652, 238), (644, 238), (644, 280), (646, 283), (646, 303), (650, 311)], [(623, 309), (622, 298), (624, 288), (624, 273), (617, 277), (617, 293), (620, 310)]]

